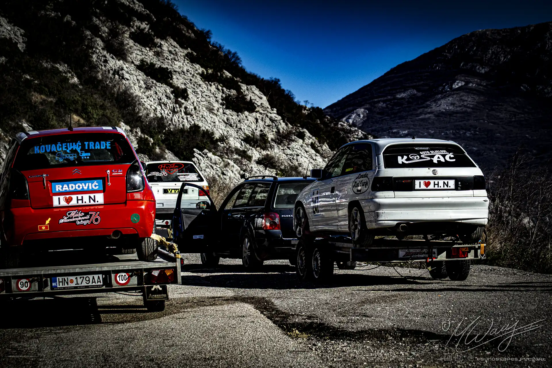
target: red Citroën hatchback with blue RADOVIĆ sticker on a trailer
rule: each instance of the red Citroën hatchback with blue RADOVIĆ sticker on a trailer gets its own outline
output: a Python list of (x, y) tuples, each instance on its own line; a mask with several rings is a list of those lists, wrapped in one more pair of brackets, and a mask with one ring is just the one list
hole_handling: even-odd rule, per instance
[(109, 246), (157, 258), (155, 198), (120, 128), (19, 133), (0, 175), (0, 247), (8, 264), (22, 252)]

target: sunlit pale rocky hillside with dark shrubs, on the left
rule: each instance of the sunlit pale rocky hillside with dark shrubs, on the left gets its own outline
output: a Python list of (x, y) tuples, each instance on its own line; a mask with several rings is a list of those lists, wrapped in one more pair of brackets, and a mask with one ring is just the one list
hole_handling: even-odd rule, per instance
[(163, 0), (0, 4), (0, 157), (10, 136), (123, 127), (142, 159), (192, 159), (213, 185), (303, 175), (365, 137), (247, 72)]

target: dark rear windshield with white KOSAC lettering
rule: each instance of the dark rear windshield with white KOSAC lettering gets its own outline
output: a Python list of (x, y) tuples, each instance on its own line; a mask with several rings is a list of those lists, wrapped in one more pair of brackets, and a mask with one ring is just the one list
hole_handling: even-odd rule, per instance
[(386, 168), (408, 167), (475, 167), (456, 145), (392, 145), (383, 151)]

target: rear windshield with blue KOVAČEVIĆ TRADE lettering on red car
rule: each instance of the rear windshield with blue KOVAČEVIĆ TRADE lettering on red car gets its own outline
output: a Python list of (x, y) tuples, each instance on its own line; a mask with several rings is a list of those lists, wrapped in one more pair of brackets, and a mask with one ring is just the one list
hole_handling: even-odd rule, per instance
[(123, 135), (71, 133), (25, 139), (15, 157), (14, 168), (23, 171), (134, 161), (136, 156)]

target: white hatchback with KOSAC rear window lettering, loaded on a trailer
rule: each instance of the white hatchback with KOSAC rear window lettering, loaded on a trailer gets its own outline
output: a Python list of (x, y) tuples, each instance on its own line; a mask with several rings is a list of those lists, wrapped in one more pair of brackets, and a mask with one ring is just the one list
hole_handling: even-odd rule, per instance
[(452, 141), (351, 142), (311, 177), (318, 180), (295, 203), (299, 238), (349, 234), (361, 247), (375, 236), (454, 236), (474, 243), (487, 225), (483, 173)]

